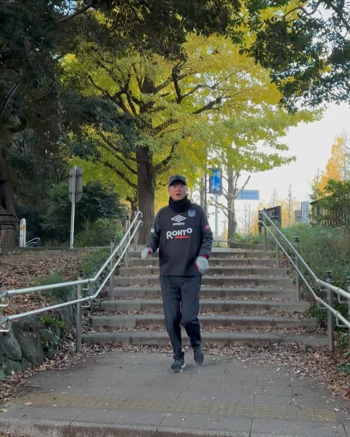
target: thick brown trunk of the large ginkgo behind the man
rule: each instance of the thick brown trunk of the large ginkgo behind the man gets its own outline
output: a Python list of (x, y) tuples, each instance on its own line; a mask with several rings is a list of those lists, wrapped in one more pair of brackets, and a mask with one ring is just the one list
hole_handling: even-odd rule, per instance
[(148, 147), (136, 151), (138, 166), (139, 210), (143, 214), (143, 226), (140, 228), (139, 244), (145, 244), (155, 219), (156, 175), (152, 155)]

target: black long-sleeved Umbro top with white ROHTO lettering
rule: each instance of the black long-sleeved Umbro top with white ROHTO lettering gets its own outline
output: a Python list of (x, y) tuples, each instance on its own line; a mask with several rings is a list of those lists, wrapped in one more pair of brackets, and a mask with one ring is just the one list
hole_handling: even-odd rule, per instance
[(193, 276), (200, 274), (194, 267), (196, 257), (210, 256), (212, 240), (204, 209), (191, 203), (181, 213), (161, 208), (146, 246), (153, 252), (159, 247), (160, 276)]

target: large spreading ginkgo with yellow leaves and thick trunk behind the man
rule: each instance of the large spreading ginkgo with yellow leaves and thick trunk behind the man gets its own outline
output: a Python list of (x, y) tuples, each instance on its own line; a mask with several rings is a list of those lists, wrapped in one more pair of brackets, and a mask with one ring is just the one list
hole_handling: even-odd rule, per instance
[[(239, 171), (281, 165), (290, 158), (280, 157), (285, 146), (274, 143), (277, 135), (305, 119), (305, 112), (278, 109), (280, 93), (267, 72), (230, 40), (189, 34), (183, 52), (176, 61), (121, 56), (81, 41), (64, 60), (66, 86), (88, 101), (80, 133), (95, 144), (92, 159), (118, 175), (122, 197), (137, 196), (141, 243), (154, 220), (156, 188), (171, 170), (191, 183), (210, 161)], [(259, 140), (275, 152), (258, 150)]]

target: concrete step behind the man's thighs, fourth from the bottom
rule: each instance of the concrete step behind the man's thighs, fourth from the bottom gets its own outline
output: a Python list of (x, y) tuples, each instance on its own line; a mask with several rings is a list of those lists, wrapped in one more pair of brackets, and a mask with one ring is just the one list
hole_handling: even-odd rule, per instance
[[(101, 297), (108, 295), (107, 291), (101, 293)], [(154, 287), (115, 287), (114, 297), (118, 298), (160, 298), (160, 286)], [(295, 288), (274, 288), (274, 287), (201, 287), (201, 298), (269, 298), (275, 297), (279, 299), (295, 299)]]

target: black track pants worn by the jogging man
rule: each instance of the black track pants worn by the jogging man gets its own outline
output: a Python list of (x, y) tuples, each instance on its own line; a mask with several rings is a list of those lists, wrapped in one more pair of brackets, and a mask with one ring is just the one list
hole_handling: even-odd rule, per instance
[(199, 311), (199, 290), (201, 276), (160, 276), (163, 296), (165, 327), (174, 350), (174, 358), (182, 357), (181, 329), (185, 328), (191, 346), (201, 344)]

